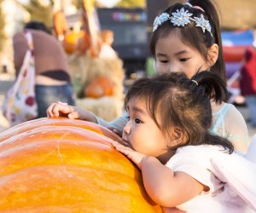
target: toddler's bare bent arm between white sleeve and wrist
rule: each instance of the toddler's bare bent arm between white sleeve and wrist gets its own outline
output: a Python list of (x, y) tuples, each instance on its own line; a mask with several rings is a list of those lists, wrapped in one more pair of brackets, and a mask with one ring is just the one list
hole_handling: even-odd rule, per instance
[(156, 204), (164, 207), (183, 204), (195, 198), (205, 187), (189, 174), (174, 172), (154, 157), (143, 157), (141, 170), (148, 195)]

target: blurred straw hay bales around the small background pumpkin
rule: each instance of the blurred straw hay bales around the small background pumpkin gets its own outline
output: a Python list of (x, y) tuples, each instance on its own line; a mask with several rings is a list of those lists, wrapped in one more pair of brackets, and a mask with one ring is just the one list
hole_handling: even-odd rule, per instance
[[(72, 58), (73, 57), (73, 58)], [(80, 81), (81, 89), (99, 76), (108, 77), (113, 82), (113, 95), (99, 99), (78, 98), (76, 105), (89, 110), (96, 116), (111, 121), (123, 111), (125, 71), (123, 61), (117, 59), (90, 58), (85, 55), (69, 56), (69, 66), (74, 87)], [(76, 89), (75, 89), (76, 90)]]

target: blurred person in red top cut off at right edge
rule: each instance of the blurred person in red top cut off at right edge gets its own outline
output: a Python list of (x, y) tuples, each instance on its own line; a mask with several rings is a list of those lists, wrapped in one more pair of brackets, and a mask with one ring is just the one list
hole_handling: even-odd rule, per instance
[(256, 128), (256, 40), (245, 52), (241, 66), (240, 89), (241, 95), (246, 98), (251, 125)]

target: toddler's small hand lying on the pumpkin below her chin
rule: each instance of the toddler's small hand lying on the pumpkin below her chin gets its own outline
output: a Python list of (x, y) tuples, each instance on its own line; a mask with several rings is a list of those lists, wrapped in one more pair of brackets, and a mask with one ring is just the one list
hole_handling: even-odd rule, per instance
[(125, 154), (128, 158), (130, 158), (134, 164), (137, 164), (137, 167), (141, 169), (143, 158), (146, 156), (143, 153), (138, 153), (137, 151), (131, 149), (131, 147), (125, 147), (117, 141), (112, 142), (113, 147), (118, 150), (120, 153)]

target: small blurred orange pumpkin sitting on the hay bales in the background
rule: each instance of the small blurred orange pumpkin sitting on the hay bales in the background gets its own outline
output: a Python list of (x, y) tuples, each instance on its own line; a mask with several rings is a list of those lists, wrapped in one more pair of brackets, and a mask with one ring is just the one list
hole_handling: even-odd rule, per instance
[(95, 78), (84, 90), (85, 97), (100, 98), (113, 95), (113, 83), (108, 77)]

